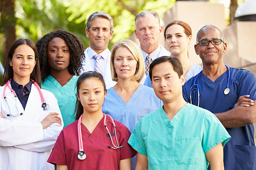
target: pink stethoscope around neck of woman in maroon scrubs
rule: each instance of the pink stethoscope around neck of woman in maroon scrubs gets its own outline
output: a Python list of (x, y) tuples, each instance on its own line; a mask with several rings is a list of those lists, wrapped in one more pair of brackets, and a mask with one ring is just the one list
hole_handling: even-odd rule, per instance
[[(105, 128), (108, 130), (107, 122), (111, 122), (113, 124), (114, 130), (115, 130), (115, 122), (114, 122), (113, 118), (110, 115), (106, 115), (104, 113), (103, 113), (103, 115), (104, 115), (104, 126), (105, 126)], [(86, 155), (84, 153), (84, 146), (83, 146), (82, 133), (81, 133), (82, 116), (83, 116), (83, 114), (79, 117), (79, 120), (78, 120), (78, 123), (77, 123), (78, 144), (79, 144), (79, 153), (78, 153), (77, 157), (78, 157), (79, 160), (84, 160), (86, 158)], [(106, 122), (107, 116), (110, 118), (110, 120), (108, 120)], [(112, 149), (123, 148), (123, 145), (119, 146), (119, 144), (118, 144), (116, 130), (115, 130), (115, 140), (116, 140), (117, 146), (113, 143), (113, 140), (112, 140), (112, 137), (111, 137), (111, 134), (110, 134), (109, 130), (108, 130), (108, 135), (110, 136), (111, 142), (114, 146), (114, 147), (112, 147), (112, 146), (109, 145), (108, 148), (112, 148)]]

